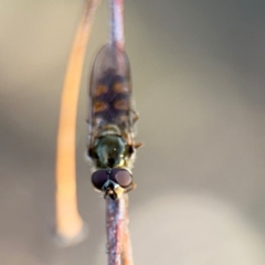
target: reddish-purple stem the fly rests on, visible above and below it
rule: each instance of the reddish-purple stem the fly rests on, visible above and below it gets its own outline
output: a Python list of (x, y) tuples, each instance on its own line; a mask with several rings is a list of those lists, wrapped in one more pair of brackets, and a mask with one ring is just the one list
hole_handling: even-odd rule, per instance
[[(119, 51), (125, 49), (124, 0), (109, 0), (110, 44)], [(128, 194), (119, 200), (107, 199), (106, 229), (108, 265), (132, 265), (128, 229)]]

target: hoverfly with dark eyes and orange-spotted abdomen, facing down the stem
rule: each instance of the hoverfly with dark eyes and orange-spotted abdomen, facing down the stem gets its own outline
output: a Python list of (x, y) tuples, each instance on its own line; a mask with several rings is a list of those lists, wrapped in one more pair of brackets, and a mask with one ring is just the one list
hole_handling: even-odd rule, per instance
[(132, 181), (138, 115), (131, 99), (130, 66), (126, 53), (106, 44), (97, 54), (88, 93), (87, 156), (97, 191), (117, 200), (136, 188)]

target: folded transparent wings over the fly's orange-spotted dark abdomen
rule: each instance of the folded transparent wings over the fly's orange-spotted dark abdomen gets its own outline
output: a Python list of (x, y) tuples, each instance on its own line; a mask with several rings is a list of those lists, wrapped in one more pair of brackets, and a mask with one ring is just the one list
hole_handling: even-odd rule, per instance
[(108, 128), (116, 128), (132, 145), (136, 114), (131, 104), (130, 66), (125, 52), (105, 45), (97, 54), (88, 98), (88, 145)]

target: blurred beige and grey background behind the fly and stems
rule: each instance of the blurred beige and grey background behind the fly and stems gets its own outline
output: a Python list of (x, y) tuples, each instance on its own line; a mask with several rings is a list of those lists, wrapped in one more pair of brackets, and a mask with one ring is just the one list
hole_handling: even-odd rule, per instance
[[(105, 204), (83, 159), (96, 13), (77, 120), (78, 204), (89, 225), (60, 248), (54, 159), (61, 88), (84, 0), (0, 2), (0, 264), (106, 264)], [(139, 150), (136, 264), (265, 264), (265, 1), (126, 1)]]

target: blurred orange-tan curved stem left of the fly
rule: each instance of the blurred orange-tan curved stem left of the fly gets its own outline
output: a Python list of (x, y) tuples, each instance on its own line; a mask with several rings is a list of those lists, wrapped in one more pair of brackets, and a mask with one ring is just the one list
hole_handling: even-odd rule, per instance
[(98, 0), (88, 0), (72, 45), (61, 97), (56, 150), (56, 233), (61, 244), (82, 240), (84, 224), (77, 210), (75, 128), (83, 63)]

